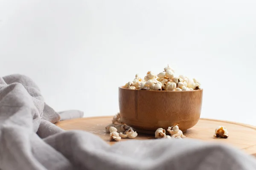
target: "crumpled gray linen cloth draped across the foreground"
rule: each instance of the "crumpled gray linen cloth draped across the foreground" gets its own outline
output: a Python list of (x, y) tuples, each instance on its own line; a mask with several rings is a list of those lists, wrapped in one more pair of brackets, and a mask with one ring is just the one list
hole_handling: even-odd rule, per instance
[(52, 124), (79, 116), (80, 111), (55, 112), (26, 76), (0, 77), (0, 169), (256, 170), (254, 157), (229, 146), (189, 139), (110, 146), (93, 134)]

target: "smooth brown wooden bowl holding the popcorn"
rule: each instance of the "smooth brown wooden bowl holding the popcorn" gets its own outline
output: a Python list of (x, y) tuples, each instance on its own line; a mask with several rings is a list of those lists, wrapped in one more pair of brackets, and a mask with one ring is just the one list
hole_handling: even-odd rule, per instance
[(140, 133), (154, 133), (178, 124), (180, 130), (195, 126), (200, 118), (203, 90), (146, 91), (119, 87), (121, 122)]

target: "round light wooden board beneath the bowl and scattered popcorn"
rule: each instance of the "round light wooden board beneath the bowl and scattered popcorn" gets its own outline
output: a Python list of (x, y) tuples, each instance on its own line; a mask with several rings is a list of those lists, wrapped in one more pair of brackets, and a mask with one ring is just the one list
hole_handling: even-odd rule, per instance
[[(105, 116), (71, 119), (58, 122), (56, 125), (64, 130), (85, 130), (101, 137), (109, 144), (114, 144), (115, 142), (109, 142), (109, 133), (105, 132), (105, 126), (111, 124), (112, 118), (113, 117)], [(217, 139), (213, 137), (215, 128), (218, 126), (227, 127), (229, 131), (229, 137), (227, 139)], [(229, 144), (244, 150), (248, 154), (256, 156), (256, 127), (254, 126), (213, 119), (200, 119), (197, 125), (187, 130), (184, 135), (186, 135), (187, 138)], [(136, 139), (154, 139), (154, 136), (138, 133)], [(126, 140), (134, 139), (122, 139), (121, 142)]]

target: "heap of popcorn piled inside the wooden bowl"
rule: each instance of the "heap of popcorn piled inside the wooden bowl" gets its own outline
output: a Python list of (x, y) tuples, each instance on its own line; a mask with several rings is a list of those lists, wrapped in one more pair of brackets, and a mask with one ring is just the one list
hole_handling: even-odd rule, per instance
[(133, 81), (125, 84), (125, 88), (154, 91), (193, 91), (202, 89), (197, 79), (190, 79), (183, 75), (175, 77), (174, 73), (174, 69), (168, 65), (163, 72), (157, 75), (152, 71), (148, 71), (144, 79), (136, 74)]

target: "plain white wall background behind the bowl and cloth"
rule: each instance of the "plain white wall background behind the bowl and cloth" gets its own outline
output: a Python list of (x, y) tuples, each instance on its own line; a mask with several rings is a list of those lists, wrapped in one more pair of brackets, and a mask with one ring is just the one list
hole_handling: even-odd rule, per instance
[(256, 1), (0, 0), (0, 76), (55, 110), (113, 115), (118, 86), (158, 73), (204, 87), (202, 117), (256, 125)]

